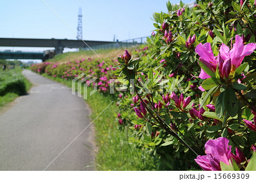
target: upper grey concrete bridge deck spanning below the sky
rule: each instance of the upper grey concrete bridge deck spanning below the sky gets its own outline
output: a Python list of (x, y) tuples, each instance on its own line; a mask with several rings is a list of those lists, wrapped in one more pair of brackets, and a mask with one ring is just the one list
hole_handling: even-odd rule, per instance
[[(113, 43), (113, 41), (90, 41), (84, 40), (89, 47)], [(86, 48), (82, 40), (68, 39), (16, 39), (0, 38), (0, 47), (54, 47), (55, 54), (63, 52), (64, 48)]]

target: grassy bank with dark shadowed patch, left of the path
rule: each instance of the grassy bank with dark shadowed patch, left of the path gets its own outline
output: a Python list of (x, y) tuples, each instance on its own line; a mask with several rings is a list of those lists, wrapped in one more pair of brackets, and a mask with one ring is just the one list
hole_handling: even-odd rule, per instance
[(24, 95), (32, 86), (20, 68), (0, 71), (0, 108)]

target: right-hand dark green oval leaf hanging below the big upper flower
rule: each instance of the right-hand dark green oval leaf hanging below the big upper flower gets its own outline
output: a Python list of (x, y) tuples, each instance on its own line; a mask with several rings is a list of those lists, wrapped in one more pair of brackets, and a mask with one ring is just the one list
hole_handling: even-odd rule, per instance
[(224, 98), (224, 104), (225, 109), (229, 113), (231, 117), (234, 117), (237, 115), (238, 111), (238, 101), (236, 93), (233, 91), (231, 87), (228, 87), (225, 91), (225, 98)]

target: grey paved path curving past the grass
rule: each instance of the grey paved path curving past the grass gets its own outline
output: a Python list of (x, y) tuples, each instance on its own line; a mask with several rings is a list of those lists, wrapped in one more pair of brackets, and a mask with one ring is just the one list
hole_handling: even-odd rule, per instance
[[(0, 114), (0, 170), (44, 170), (90, 124), (89, 107), (70, 88), (23, 74), (34, 87)], [(94, 170), (92, 148), (90, 125), (46, 170)]]

